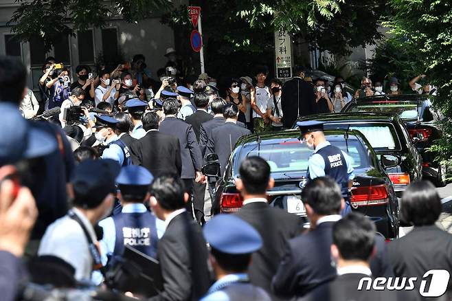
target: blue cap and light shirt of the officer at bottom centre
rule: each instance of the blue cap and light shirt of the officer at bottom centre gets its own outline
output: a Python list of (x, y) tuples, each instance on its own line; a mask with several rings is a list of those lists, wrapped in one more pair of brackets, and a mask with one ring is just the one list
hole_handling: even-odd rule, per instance
[[(203, 228), (206, 241), (212, 249), (228, 254), (245, 255), (256, 252), (262, 247), (259, 233), (246, 221), (231, 214), (215, 216)], [(221, 235), (218, 235), (221, 233)], [(251, 257), (250, 257), (251, 258)], [(224, 267), (227, 269), (227, 267)], [(264, 289), (251, 285), (248, 275), (243, 273), (228, 274), (218, 279), (201, 301), (238, 301), (271, 300)]]

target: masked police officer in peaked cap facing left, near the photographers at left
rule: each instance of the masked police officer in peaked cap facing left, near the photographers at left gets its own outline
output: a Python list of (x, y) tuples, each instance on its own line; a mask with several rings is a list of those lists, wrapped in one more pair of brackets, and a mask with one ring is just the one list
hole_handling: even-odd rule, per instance
[(128, 146), (120, 140), (116, 132), (116, 124), (119, 122), (114, 118), (106, 115), (100, 115), (96, 118), (95, 137), (100, 142), (102, 152), (102, 159), (113, 159), (117, 161), (120, 166), (128, 166), (132, 164), (131, 153)]

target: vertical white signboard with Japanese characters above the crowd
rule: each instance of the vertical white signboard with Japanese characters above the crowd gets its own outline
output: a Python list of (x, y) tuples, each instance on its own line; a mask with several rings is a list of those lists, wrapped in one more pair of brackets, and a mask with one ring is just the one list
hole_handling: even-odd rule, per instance
[(292, 77), (291, 36), (282, 28), (275, 32), (276, 77)]

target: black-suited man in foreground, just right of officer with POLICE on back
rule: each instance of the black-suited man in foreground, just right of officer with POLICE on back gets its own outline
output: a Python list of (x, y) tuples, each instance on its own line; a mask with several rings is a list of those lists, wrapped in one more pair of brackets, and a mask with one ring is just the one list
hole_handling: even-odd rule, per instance
[(207, 246), (201, 231), (185, 210), (188, 194), (177, 177), (162, 176), (152, 182), (150, 206), (165, 221), (165, 234), (159, 241), (163, 291), (157, 300), (199, 300), (212, 279), (207, 267)]

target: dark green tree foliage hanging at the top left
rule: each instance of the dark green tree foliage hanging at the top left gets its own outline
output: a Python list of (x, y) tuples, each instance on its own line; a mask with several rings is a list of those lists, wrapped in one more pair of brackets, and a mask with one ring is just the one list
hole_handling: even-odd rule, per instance
[(139, 21), (155, 12), (172, 8), (168, 0), (16, 0), (19, 8), (12, 15), (12, 32), (24, 41), (43, 38), (48, 50), (61, 34), (102, 27), (111, 16), (122, 15), (128, 22)]

